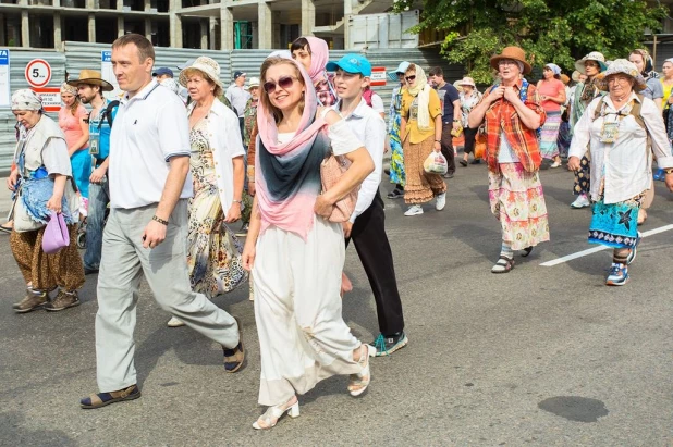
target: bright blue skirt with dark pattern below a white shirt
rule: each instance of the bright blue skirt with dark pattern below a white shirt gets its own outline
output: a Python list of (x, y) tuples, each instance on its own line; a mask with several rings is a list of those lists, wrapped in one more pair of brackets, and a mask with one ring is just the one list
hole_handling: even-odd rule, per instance
[(601, 198), (594, 203), (589, 244), (633, 248), (638, 238), (638, 210), (644, 197), (645, 193), (623, 202), (607, 204)]

